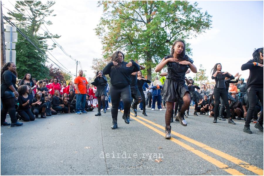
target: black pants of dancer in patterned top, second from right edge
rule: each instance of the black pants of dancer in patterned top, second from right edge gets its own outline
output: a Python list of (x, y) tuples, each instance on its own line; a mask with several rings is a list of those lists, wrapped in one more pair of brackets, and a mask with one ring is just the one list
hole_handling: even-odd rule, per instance
[(230, 107), (229, 107), (228, 97), (225, 88), (214, 88), (214, 100), (215, 100), (214, 118), (218, 117), (220, 97), (223, 99), (224, 105), (226, 107), (226, 117), (229, 118), (231, 117), (231, 114), (230, 114)]

